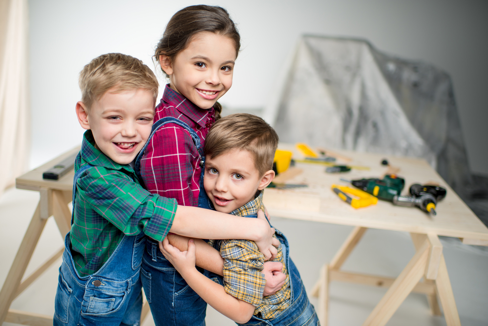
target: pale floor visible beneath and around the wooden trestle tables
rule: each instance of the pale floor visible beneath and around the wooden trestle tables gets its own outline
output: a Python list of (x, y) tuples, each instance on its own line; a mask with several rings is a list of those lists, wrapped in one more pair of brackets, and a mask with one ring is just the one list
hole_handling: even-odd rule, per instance
[[(0, 283), (3, 284), (23, 234), (39, 200), (39, 193), (9, 189), (0, 197)], [(330, 261), (351, 231), (351, 227), (272, 217), (272, 224), (290, 241), (290, 254), (311, 291), (320, 266)], [(454, 297), (464, 326), (488, 325), (488, 251), (467, 246), (457, 239), (441, 239)], [(29, 264), (26, 275), (45, 261), (63, 239), (53, 218), (46, 227)], [(368, 230), (343, 266), (344, 270), (396, 277), (414, 254), (407, 233)], [(13, 309), (53, 315), (59, 259), (28, 287), (11, 305)], [(385, 289), (333, 282), (330, 286), (329, 325), (357, 326), (380, 301)], [(311, 298), (313, 304), (317, 299)], [(235, 325), (211, 307), (207, 325)], [(14, 324), (4, 323), (4, 326)], [(154, 325), (147, 318), (144, 326)], [(424, 295), (409, 295), (387, 325), (441, 326), (443, 317), (432, 316)]]

